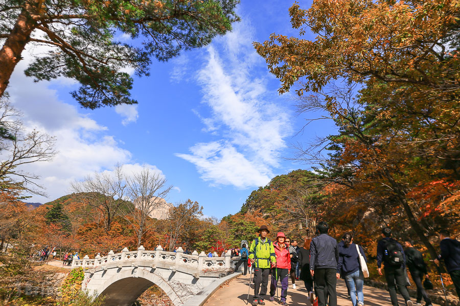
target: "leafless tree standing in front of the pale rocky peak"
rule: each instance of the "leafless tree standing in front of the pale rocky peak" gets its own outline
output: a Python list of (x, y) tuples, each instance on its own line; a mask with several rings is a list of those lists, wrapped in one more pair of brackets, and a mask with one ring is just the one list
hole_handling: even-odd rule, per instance
[(125, 198), (130, 203), (120, 212), (135, 232), (137, 247), (142, 244), (143, 236), (155, 225), (156, 222), (150, 216), (164, 206), (171, 188), (162, 173), (146, 166), (140, 172), (126, 176)]

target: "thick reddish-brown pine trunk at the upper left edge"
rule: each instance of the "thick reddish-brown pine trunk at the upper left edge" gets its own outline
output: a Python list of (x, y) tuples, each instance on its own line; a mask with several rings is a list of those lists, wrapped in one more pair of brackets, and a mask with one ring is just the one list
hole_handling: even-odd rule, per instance
[(23, 10), (18, 16), (14, 28), (0, 50), (0, 97), (5, 93), (14, 67), (22, 59), (21, 53), (29, 42), (30, 34), (36, 22)]

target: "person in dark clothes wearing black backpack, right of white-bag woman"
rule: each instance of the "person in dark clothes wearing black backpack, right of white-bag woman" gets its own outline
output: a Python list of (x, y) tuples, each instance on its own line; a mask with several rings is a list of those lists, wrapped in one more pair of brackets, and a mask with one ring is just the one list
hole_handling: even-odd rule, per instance
[(392, 299), (393, 306), (399, 306), (398, 297), (396, 295), (396, 288), (404, 298), (407, 306), (412, 306), (413, 302), (410, 300), (409, 292), (406, 288), (406, 274), (404, 250), (395, 239), (391, 238), (392, 230), (385, 227), (382, 230), (383, 239), (379, 240), (377, 244), (377, 268), (380, 275), (382, 273), (382, 262), (384, 264), (385, 279), (388, 285), (388, 292)]

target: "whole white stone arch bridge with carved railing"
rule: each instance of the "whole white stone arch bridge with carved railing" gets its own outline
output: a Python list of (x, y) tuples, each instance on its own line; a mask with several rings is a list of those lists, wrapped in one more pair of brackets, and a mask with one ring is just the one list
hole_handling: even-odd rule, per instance
[(82, 267), (85, 276), (82, 289), (90, 295), (105, 295), (106, 306), (131, 306), (153, 284), (170, 297), (174, 305), (193, 305), (218, 288), (227, 275), (235, 270), (239, 257), (208, 258), (204, 252), (191, 255), (164, 251), (160, 246), (154, 251), (141, 246), (136, 251), (124, 248), (121, 253), (110, 251), (107, 256), (95, 259), (73, 260), (72, 267)]

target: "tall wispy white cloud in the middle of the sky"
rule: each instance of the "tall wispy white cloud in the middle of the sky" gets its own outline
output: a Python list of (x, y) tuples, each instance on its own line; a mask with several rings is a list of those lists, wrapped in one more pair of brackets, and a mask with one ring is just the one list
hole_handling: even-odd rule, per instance
[(191, 154), (176, 156), (195, 164), (201, 178), (211, 185), (248, 188), (267, 184), (272, 169), (280, 165), (284, 138), (291, 132), (286, 110), (267, 101), (269, 94), (277, 93), (253, 75), (265, 64), (252, 41), (251, 27), (236, 25), (221, 44), (207, 48), (208, 62), (198, 72), (203, 103), (212, 113), (209, 118), (199, 117), (205, 131), (221, 139), (197, 143), (190, 148)]

